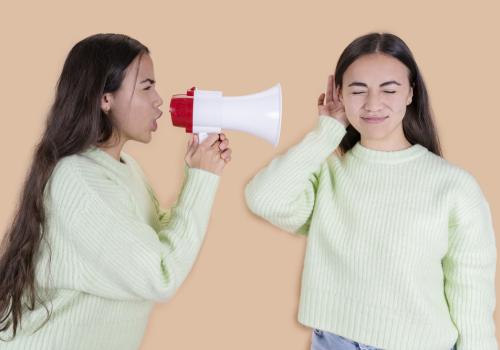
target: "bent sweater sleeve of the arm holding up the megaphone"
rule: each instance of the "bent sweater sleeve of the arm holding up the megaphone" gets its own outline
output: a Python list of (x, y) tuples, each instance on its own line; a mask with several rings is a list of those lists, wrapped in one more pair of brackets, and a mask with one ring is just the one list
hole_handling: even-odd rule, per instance
[(219, 176), (187, 169), (170, 218), (163, 217), (161, 230), (155, 232), (130, 210), (130, 203), (114, 200), (124, 197), (111, 179), (87, 181), (72, 173), (63, 187), (77, 186), (78, 199), (68, 194), (59, 197), (72, 206), (66, 231), (78, 255), (79, 287), (111, 299), (168, 300), (197, 258)]

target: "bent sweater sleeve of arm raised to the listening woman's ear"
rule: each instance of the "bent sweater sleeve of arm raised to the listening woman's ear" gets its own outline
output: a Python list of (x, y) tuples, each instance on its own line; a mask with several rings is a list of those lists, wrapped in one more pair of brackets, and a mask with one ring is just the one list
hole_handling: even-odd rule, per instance
[(245, 199), (249, 209), (285, 231), (307, 234), (318, 172), (345, 134), (341, 122), (320, 116), (315, 129), (247, 184)]

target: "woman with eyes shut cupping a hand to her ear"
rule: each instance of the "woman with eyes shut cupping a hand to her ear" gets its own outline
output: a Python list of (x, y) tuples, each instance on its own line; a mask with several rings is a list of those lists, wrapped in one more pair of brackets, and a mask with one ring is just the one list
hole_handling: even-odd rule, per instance
[(307, 236), (298, 319), (311, 349), (498, 349), (490, 207), (442, 158), (410, 49), (357, 38), (318, 110), (245, 191), (254, 213)]

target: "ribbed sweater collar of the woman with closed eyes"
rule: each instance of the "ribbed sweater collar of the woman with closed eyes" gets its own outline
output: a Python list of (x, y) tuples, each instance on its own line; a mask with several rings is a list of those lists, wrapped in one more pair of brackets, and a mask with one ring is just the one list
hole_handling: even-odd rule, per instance
[(427, 148), (416, 143), (397, 151), (380, 151), (363, 146), (359, 141), (350, 150), (359, 159), (374, 163), (395, 164), (415, 159), (427, 152)]

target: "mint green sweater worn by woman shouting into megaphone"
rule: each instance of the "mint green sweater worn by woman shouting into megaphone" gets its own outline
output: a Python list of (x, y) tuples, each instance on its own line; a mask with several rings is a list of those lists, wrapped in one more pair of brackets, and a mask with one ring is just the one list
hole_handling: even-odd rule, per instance
[[(203, 242), (219, 176), (185, 168), (180, 196), (164, 210), (134, 159), (99, 148), (61, 159), (45, 189), (48, 215), (36, 281), (52, 309), (23, 315), (0, 349), (138, 349), (154, 302), (172, 297)], [(1, 333), (2, 338), (8, 335)], [(167, 344), (165, 344), (167, 347)]]

